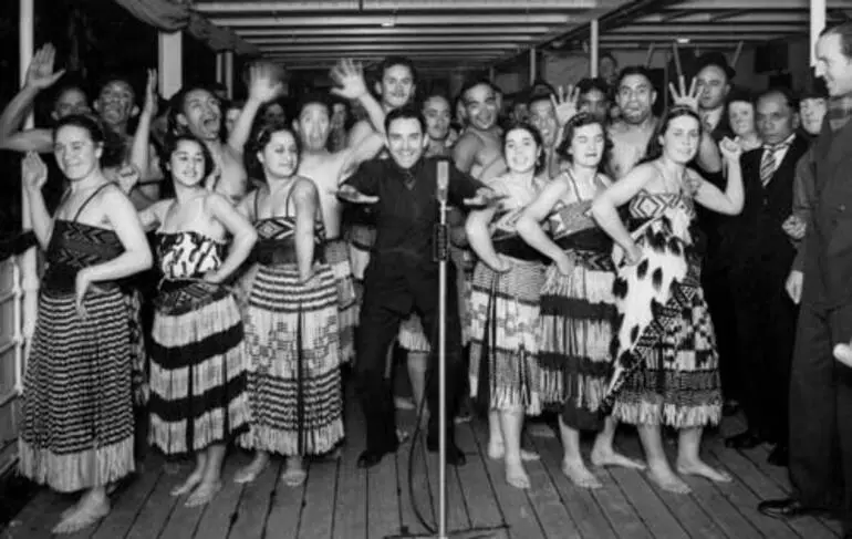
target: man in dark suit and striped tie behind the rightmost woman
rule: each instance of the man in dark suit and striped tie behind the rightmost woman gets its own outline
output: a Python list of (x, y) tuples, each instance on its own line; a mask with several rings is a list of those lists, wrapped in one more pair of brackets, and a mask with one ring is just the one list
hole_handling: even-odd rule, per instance
[(785, 290), (796, 248), (782, 224), (792, 211), (796, 164), (808, 151), (797, 135), (792, 93), (769, 90), (756, 103), (763, 145), (742, 156), (742, 213), (727, 224), (738, 354), (736, 374), (748, 429), (728, 447), (776, 444), (769, 462), (787, 465), (788, 395), (797, 308)]

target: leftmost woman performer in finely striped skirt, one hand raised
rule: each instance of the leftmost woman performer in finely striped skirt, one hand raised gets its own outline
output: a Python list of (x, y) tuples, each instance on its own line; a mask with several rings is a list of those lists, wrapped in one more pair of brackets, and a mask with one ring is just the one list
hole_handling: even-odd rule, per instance
[(53, 218), (41, 188), (48, 169), (24, 160), (33, 231), (46, 250), (22, 396), (20, 470), (72, 493), (86, 489), (54, 533), (73, 533), (110, 512), (106, 486), (134, 470), (131, 335), (118, 281), (152, 265), (136, 211), (104, 176), (106, 129), (71, 115), (54, 131), (69, 180)]

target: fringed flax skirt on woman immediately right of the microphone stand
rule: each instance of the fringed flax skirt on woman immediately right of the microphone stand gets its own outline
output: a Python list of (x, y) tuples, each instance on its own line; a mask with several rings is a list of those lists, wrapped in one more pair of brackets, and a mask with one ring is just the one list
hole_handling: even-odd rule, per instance
[(541, 410), (538, 364), (539, 294), (544, 266), (507, 257), (506, 273), (484, 262), (470, 294), (470, 391), (489, 408)]

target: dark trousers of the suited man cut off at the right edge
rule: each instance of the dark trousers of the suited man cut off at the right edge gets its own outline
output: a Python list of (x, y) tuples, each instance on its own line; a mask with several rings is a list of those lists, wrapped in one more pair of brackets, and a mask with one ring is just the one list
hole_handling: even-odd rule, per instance
[(850, 338), (852, 305), (827, 311), (802, 304), (790, 382), (793, 493), (808, 506), (828, 507), (842, 481), (846, 532), (852, 530), (852, 369), (839, 363), (832, 349)]

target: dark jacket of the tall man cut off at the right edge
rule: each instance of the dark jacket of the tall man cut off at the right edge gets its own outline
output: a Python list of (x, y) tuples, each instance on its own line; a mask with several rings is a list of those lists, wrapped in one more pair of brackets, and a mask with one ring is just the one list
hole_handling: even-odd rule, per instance
[(801, 251), (802, 303), (852, 304), (852, 122), (832, 133), (828, 118), (813, 147), (813, 211)]

